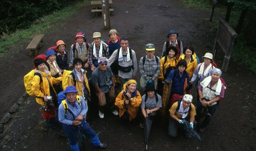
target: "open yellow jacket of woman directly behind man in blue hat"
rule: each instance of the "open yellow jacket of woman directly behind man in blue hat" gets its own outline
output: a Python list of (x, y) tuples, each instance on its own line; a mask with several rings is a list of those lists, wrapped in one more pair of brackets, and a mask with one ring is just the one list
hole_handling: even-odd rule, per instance
[[(87, 90), (88, 90), (88, 92), (89, 92), (89, 96), (91, 97), (90, 88), (89, 88), (89, 84), (88, 84), (88, 80), (87, 80), (87, 77), (86, 77), (86, 75), (85, 75), (86, 72), (87, 72), (87, 71), (85, 71), (85, 70), (83, 71), (83, 77), (84, 77), (84, 83), (85, 83), (84, 86), (87, 88)], [(77, 92), (77, 95), (84, 97), (84, 95), (83, 95), (83, 87), (82, 87), (82, 82), (81, 82), (81, 80), (77, 81), (76, 78), (75, 78), (75, 80), (76, 80), (76, 91), (79, 91), (79, 92)], [(72, 75), (69, 75), (69, 76), (68, 76), (68, 86), (75, 86)]]

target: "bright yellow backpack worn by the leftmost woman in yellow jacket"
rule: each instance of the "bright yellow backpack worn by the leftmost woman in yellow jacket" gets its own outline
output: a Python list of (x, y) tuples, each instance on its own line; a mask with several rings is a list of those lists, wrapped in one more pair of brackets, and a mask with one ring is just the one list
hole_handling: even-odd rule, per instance
[(41, 75), (40, 73), (35, 72), (35, 70), (31, 70), (30, 72), (28, 72), (28, 74), (26, 74), (26, 75), (24, 76), (24, 86), (25, 86), (26, 92), (28, 93), (29, 96), (36, 96), (36, 95), (32, 92), (32, 90), (31, 90), (31, 87), (32, 87), (31, 82), (32, 82), (33, 77), (34, 77), (35, 75), (36, 75), (36, 76), (39, 76), (39, 78), (40, 78), (40, 83), (39, 83), (39, 85), (40, 85), (40, 84), (43, 82), (42, 75)]

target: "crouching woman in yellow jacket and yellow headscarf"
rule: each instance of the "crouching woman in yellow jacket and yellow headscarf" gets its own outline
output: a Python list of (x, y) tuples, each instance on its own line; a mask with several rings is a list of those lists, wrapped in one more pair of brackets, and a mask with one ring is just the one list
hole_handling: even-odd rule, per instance
[(115, 105), (119, 108), (119, 117), (122, 120), (128, 120), (128, 118), (132, 120), (137, 117), (141, 96), (136, 90), (136, 84), (135, 80), (129, 80), (124, 84), (124, 90), (116, 96)]

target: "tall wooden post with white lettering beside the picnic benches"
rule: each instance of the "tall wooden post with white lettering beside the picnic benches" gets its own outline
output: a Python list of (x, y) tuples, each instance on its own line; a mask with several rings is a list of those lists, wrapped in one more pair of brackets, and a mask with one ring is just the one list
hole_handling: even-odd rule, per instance
[(110, 28), (109, 0), (101, 0), (103, 29)]

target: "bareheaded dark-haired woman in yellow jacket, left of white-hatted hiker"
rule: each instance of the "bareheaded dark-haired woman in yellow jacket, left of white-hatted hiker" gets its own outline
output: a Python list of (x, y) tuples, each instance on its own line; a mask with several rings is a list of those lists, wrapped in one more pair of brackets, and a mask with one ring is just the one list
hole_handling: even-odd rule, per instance
[[(194, 48), (192, 46), (185, 47), (183, 49), (183, 53), (180, 55), (178, 62), (180, 60), (185, 60), (187, 62), (188, 68), (186, 69), (186, 71), (188, 72), (189, 79), (191, 79), (197, 66), (196, 53)], [(191, 88), (192, 88), (192, 84), (189, 85), (187, 94), (190, 94)]]

